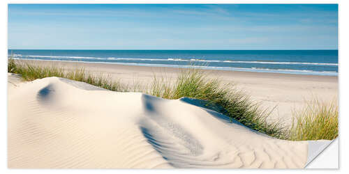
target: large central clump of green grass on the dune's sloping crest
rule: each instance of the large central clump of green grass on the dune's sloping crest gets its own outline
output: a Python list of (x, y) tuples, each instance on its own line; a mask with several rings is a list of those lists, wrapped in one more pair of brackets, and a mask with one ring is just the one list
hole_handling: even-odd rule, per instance
[(205, 100), (209, 109), (235, 118), (242, 124), (258, 132), (284, 139), (285, 128), (280, 122), (270, 123), (266, 119), (270, 112), (260, 110), (249, 96), (230, 84), (222, 84), (219, 79), (210, 79), (202, 70), (182, 70), (174, 84), (164, 83), (154, 77), (150, 95), (166, 99), (190, 97)]

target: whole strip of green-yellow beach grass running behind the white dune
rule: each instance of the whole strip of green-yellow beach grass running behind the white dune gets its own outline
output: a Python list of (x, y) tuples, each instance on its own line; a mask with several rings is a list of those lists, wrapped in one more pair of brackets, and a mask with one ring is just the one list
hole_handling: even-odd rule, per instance
[[(310, 107), (310, 109), (313, 110), (298, 113), (291, 128), (284, 127), (281, 121), (267, 122), (272, 109), (260, 109), (260, 105), (251, 102), (249, 95), (243, 91), (237, 90), (232, 84), (223, 84), (218, 78), (209, 78), (209, 74), (199, 69), (181, 70), (174, 81), (154, 75), (153, 81), (146, 88), (139, 86), (131, 88), (109, 76), (91, 74), (83, 68), (65, 70), (54, 66), (20, 63), (13, 58), (8, 59), (8, 72), (21, 74), (24, 81), (45, 77), (62, 77), (117, 92), (142, 92), (174, 100), (190, 97), (205, 101), (205, 107), (208, 109), (223, 113), (255, 131), (278, 139), (317, 140), (334, 139), (338, 136), (337, 107), (327, 108), (322, 105), (322, 107), (311, 105), (313, 108)], [(335, 111), (337, 112), (336, 116), (334, 116)], [(333, 116), (336, 119), (332, 118)], [(316, 132), (318, 129), (324, 135)]]

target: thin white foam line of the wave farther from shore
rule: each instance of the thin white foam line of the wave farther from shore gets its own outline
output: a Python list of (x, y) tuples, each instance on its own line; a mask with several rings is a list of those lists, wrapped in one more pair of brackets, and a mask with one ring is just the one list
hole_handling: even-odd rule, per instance
[[(22, 57), (21, 54), (13, 54), (14, 57)], [(338, 63), (310, 63), (310, 62), (272, 62), (272, 61), (230, 61), (230, 60), (202, 60), (197, 58), (184, 59), (184, 58), (116, 58), (116, 57), (88, 57), (88, 56), (34, 56), (29, 55), (27, 57), (32, 58), (77, 58), (77, 59), (97, 59), (97, 60), (110, 60), (110, 61), (184, 61), (184, 62), (206, 62), (206, 63), (251, 63), (251, 64), (276, 64), (276, 65), (322, 65), (322, 66), (338, 66)]]

